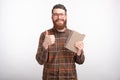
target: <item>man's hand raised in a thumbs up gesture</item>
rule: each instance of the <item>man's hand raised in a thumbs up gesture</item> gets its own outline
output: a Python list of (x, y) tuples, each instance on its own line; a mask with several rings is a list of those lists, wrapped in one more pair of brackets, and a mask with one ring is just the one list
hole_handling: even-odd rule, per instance
[(45, 39), (43, 42), (43, 46), (45, 49), (48, 48), (49, 45), (52, 45), (55, 43), (55, 36), (54, 35), (49, 35), (48, 31), (46, 31)]

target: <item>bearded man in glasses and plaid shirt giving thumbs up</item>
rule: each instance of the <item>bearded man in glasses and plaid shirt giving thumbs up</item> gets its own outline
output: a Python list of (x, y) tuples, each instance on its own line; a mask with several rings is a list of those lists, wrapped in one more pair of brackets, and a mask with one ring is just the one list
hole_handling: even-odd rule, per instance
[(67, 29), (67, 10), (57, 4), (52, 9), (53, 28), (40, 36), (36, 60), (44, 65), (43, 80), (77, 80), (75, 63), (85, 60), (83, 42), (76, 42), (77, 53), (64, 47), (72, 30)]

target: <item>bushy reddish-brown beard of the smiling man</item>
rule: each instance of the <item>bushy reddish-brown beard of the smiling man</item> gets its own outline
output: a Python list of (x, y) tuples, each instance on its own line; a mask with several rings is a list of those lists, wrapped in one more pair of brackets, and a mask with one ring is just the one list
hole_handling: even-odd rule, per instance
[(66, 28), (66, 23), (67, 20), (63, 20), (63, 19), (57, 19), (55, 21), (53, 20), (54, 28), (57, 30), (62, 30)]

